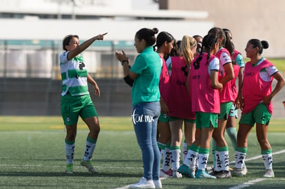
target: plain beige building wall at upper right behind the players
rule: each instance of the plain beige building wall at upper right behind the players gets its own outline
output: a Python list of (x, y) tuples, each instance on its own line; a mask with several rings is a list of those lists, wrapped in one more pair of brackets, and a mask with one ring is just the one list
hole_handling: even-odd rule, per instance
[(209, 13), (206, 21), (229, 28), (237, 50), (244, 54), (247, 41), (269, 43), (264, 57), (284, 58), (285, 1), (283, 0), (160, 0), (162, 10), (198, 10)]

